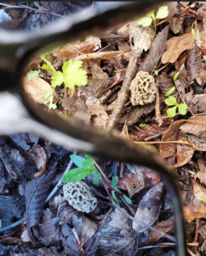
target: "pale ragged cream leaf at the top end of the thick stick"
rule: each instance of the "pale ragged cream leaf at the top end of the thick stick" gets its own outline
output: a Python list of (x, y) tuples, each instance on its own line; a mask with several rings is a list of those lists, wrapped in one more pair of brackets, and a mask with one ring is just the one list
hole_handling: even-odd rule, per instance
[(132, 55), (140, 59), (141, 53), (147, 51), (152, 46), (152, 40), (155, 32), (151, 26), (139, 26), (137, 23), (132, 23), (129, 26), (129, 40), (132, 49)]

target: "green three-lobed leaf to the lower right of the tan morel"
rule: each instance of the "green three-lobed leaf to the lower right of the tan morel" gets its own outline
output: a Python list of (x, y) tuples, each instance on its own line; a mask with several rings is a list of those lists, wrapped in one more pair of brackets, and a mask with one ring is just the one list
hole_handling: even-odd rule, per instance
[(186, 114), (186, 109), (187, 109), (186, 104), (185, 103), (178, 104), (174, 96), (169, 96), (169, 98), (166, 99), (164, 102), (168, 106), (175, 106), (167, 110), (169, 118), (172, 118), (175, 116), (177, 108), (180, 114), (183, 114), (183, 115)]

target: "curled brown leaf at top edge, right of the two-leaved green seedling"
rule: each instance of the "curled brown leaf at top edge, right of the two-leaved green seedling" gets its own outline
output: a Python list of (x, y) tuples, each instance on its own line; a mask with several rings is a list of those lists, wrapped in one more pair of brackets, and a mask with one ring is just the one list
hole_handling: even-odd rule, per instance
[(182, 32), (182, 24), (184, 17), (181, 15), (178, 15), (180, 12), (180, 4), (177, 2), (169, 2), (167, 3), (168, 5), (168, 10), (169, 10), (169, 15), (167, 17), (167, 20), (169, 22), (169, 27), (171, 30), (177, 34)]

